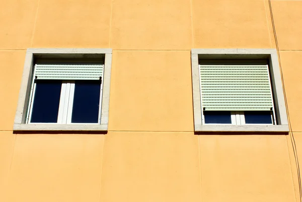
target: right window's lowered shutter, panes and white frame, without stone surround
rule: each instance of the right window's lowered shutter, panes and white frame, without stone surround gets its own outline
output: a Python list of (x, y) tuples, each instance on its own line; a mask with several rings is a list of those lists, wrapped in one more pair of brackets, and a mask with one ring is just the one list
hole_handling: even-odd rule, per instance
[[(266, 61), (263, 61), (264, 64), (247, 63), (251, 61), (199, 62), (203, 124), (241, 125), (276, 122), (268, 65), (265, 64)], [(259, 119), (250, 118), (246, 122), (245, 116), (250, 114), (249, 112), (254, 112), (254, 116)], [(215, 119), (212, 118), (213, 114)], [(226, 121), (226, 117), (230, 121)], [(225, 121), (220, 121), (220, 118)]]

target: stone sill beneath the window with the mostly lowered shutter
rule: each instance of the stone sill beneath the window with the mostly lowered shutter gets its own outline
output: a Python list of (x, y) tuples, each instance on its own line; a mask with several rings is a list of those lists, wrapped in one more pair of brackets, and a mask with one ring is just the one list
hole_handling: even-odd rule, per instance
[(288, 125), (194, 125), (195, 132), (289, 132)]

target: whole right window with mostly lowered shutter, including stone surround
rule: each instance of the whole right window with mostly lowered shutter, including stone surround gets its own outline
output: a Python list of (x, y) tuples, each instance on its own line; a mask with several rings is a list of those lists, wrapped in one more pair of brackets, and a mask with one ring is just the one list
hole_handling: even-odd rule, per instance
[(192, 49), (194, 128), (287, 132), (276, 50)]

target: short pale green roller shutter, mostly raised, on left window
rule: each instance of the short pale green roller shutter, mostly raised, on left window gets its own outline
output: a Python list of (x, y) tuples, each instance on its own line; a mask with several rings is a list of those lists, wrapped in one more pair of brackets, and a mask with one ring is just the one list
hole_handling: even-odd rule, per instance
[(104, 64), (36, 64), (34, 78), (42, 80), (100, 80)]

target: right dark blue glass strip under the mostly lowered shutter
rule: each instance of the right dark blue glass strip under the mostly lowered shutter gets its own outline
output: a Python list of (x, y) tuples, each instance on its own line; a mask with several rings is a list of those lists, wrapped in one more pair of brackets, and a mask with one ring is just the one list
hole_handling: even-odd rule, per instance
[(272, 123), (270, 111), (245, 111), (244, 117), (246, 123)]

